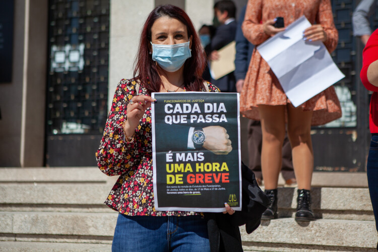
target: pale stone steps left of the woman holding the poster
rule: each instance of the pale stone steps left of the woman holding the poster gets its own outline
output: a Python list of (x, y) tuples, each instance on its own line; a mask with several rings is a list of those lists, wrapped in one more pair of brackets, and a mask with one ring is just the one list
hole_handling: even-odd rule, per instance
[(116, 177), (98, 168), (0, 168), (0, 251), (110, 251)]

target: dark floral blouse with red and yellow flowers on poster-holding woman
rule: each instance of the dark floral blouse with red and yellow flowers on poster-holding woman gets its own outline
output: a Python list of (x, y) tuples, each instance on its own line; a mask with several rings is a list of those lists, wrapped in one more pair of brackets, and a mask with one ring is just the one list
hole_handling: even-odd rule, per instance
[[(134, 141), (124, 141), (122, 124), (127, 119), (126, 110), (136, 95), (136, 81), (122, 79), (115, 90), (104, 135), (96, 152), (100, 170), (108, 176), (119, 175), (105, 205), (125, 215), (187, 216), (196, 212), (156, 211), (154, 207), (152, 175), (151, 107), (144, 113), (135, 132)], [(220, 92), (206, 82), (209, 92)], [(206, 92), (205, 86), (202, 89)], [(140, 85), (138, 95), (149, 95)]]

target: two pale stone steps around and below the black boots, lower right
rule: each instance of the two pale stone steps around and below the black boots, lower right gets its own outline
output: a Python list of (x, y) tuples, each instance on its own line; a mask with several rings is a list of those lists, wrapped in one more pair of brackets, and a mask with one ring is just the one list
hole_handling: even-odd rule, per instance
[(296, 188), (279, 188), (279, 218), (249, 235), (241, 228), (244, 251), (376, 251), (367, 188), (313, 187), (311, 222), (294, 220), (296, 197)]

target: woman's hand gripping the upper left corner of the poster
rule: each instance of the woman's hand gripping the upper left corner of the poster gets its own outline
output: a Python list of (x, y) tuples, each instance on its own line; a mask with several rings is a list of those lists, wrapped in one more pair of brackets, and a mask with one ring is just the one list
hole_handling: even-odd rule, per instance
[(137, 95), (131, 98), (127, 106), (128, 119), (124, 123), (124, 133), (131, 137), (137, 129), (139, 120), (142, 119), (146, 109), (151, 106), (151, 102), (155, 101), (148, 95)]

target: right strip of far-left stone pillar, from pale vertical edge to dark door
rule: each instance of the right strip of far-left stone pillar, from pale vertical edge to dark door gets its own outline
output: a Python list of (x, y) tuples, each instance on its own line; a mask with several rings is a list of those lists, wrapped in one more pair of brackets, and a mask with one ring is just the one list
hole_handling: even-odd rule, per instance
[(48, 0), (30, 1), (27, 17), (20, 159), (36, 167), (44, 162)]

